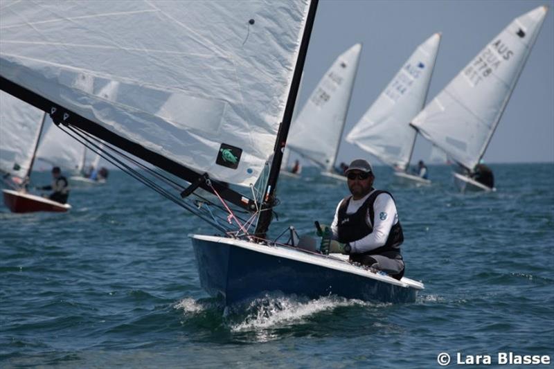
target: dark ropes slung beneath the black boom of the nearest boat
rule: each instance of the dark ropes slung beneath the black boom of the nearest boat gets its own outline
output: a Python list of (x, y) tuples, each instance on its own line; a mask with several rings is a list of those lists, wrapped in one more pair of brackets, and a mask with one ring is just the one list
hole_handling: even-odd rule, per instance
[[(88, 147), (91, 151), (93, 151), (96, 154), (102, 156), (102, 158), (109, 161), (109, 163), (112, 163), (112, 164), (116, 165), (117, 168), (119, 168), (120, 170), (123, 170), (123, 172), (126, 172), (127, 174), (131, 175), (132, 177), (134, 177), (135, 179), (137, 179), (138, 181), (143, 183), (145, 186), (152, 188), (152, 190), (158, 192), (163, 197), (166, 197), (170, 201), (173, 201), (175, 204), (181, 206), (182, 208), (185, 208), (190, 213), (193, 213), (193, 215), (197, 215), (201, 219), (204, 219), (206, 222), (208, 222), (208, 224), (212, 224), (213, 226), (215, 226), (215, 228), (220, 229), (220, 231), (223, 231), (223, 232), (228, 231), (228, 229), (223, 228), (223, 226), (221, 224), (217, 223), (215, 217), (212, 216), (213, 221), (215, 222), (215, 224), (214, 224), (214, 222), (211, 222), (210, 219), (207, 219), (204, 215), (202, 215), (199, 212), (199, 210), (200, 210), (199, 208), (197, 209), (195, 207), (190, 206), (190, 204), (187, 204), (185, 201), (183, 201), (179, 197), (177, 197), (175, 195), (172, 195), (170, 192), (168, 192), (166, 189), (159, 186), (157, 183), (155, 183), (151, 179), (148, 179), (147, 177), (143, 176), (142, 174), (139, 174), (139, 172), (136, 172), (136, 170), (130, 168), (129, 165), (123, 163), (123, 161), (120, 161), (120, 159), (117, 159), (115, 156), (111, 155), (109, 152), (107, 152), (105, 150), (102, 150), (102, 148), (100, 148), (98, 145), (96, 145), (95, 143), (89, 141), (86, 136), (84, 136), (83, 134), (78, 132), (74, 127), (69, 127), (69, 129), (71, 131), (73, 131), (76, 135), (80, 136), (82, 138), (82, 140), (84, 140), (84, 141), (81, 141), (78, 137), (74, 136), (73, 134), (71, 134), (70, 132), (68, 132), (64, 129), (62, 129), (62, 131), (64, 131), (66, 134), (69, 134), (69, 136), (71, 136), (73, 139), (75, 139), (75, 141), (78, 141), (78, 142), (82, 143), (82, 145), (84, 145), (85, 147)], [(95, 139), (95, 141), (98, 141), (98, 140), (96, 140), (96, 138), (94, 138), (94, 139)], [(94, 150), (92, 147), (90, 147), (89, 145), (84, 143), (85, 141), (87, 143), (90, 143), (91, 145), (95, 146), (96, 148), (98, 148), (98, 150), (100, 152), (102, 152), (103, 154), (106, 154), (111, 159), (108, 159), (106, 156), (100, 154), (100, 152), (97, 152), (96, 150)], [(110, 148), (111, 150), (113, 150), (109, 145), (107, 145), (107, 147)], [(116, 154), (120, 154), (120, 153), (117, 152), (117, 150), (114, 150), (114, 152), (116, 152)], [(132, 161), (132, 160), (130, 160), (130, 158), (127, 158), (127, 159), (129, 161)], [(150, 168), (146, 168), (146, 169), (148, 170)], [(152, 172), (152, 170), (150, 170), (150, 172)], [(206, 210), (204, 210), (204, 209), (202, 209), (202, 211), (206, 212)], [(224, 219), (224, 218), (220, 217), (220, 219)]]

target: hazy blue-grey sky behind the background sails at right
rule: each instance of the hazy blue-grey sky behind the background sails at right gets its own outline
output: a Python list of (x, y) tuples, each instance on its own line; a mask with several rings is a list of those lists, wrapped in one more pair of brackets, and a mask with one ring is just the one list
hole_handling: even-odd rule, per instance
[[(442, 39), (427, 102), (514, 18), (544, 5), (549, 10), (542, 30), (483, 159), (487, 163), (554, 162), (554, 0), (320, 0), (298, 107), (334, 59), (361, 42), (344, 138), (413, 50), (434, 33), (442, 33)], [(430, 151), (431, 145), (418, 136), (412, 164), (429, 159)], [(379, 164), (342, 140), (337, 162), (357, 157)]]

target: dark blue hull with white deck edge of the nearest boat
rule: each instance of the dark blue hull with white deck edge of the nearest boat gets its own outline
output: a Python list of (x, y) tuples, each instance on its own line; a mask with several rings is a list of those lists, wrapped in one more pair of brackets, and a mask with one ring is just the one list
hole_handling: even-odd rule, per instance
[(337, 295), (384, 303), (415, 301), (419, 282), (397, 281), (338, 258), (285, 246), (193, 236), (201, 285), (226, 305), (270, 291), (317, 298)]

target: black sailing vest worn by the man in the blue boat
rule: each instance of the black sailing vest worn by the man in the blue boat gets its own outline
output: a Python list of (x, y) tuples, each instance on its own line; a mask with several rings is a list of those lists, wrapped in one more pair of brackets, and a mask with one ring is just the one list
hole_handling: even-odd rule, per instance
[[(375, 198), (377, 195), (386, 193), (391, 195), (389, 192), (382, 190), (375, 190), (369, 197), (364, 201), (356, 213), (346, 214), (346, 209), (348, 209), (348, 204), (352, 196), (347, 196), (343, 199), (341, 206), (339, 207), (338, 214), (338, 228), (339, 228), (339, 242), (354, 242), (360, 240), (361, 238), (366, 237), (366, 235), (373, 232), (373, 223), (375, 223), (375, 210), (373, 209), (373, 204), (375, 203)], [(393, 195), (391, 195), (393, 197)], [(394, 198), (393, 198), (394, 201)], [(369, 216), (372, 224), (367, 224), (366, 215), (369, 211)], [(388, 233), (388, 238), (383, 246), (378, 247), (368, 251), (372, 255), (378, 255), (381, 253), (386, 253), (388, 251), (396, 251), (400, 253), (400, 244), (404, 242), (404, 234), (402, 233), (402, 226), (400, 226), (400, 221), (397, 222), (391, 228), (391, 232)]]

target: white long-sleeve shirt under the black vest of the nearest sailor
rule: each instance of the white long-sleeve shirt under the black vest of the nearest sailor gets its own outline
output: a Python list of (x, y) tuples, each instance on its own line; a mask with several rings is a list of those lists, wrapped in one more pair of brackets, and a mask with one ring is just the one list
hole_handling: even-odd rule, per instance
[[(346, 214), (356, 213), (360, 206), (364, 204), (364, 201), (366, 201), (366, 199), (368, 199), (374, 191), (375, 190), (371, 191), (368, 195), (359, 200), (350, 199), (348, 208), (346, 208)], [(335, 240), (339, 236), (339, 208), (342, 201), (344, 201), (344, 199), (339, 202), (339, 205), (337, 205), (337, 210), (334, 212), (334, 219), (331, 224), (331, 231)], [(349, 242), (350, 247), (352, 248), (350, 253), (365, 253), (384, 246), (386, 239), (388, 238), (388, 233), (391, 232), (391, 228), (398, 223), (396, 205), (394, 204), (394, 200), (391, 195), (388, 195), (387, 193), (377, 195), (375, 202), (373, 203), (373, 210), (375, 219), (370, 219), (369, 209), (366, 214), (366, 222), (367, 224), (373, 226), (373, 231), (360, 240)]]

